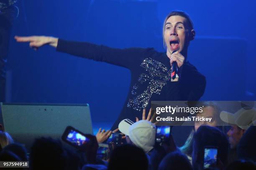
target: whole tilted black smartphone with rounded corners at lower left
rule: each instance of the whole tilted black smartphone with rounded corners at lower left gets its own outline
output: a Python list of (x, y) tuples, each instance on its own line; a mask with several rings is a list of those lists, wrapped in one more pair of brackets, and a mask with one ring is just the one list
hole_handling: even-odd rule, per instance
[(64, 133), (62, 134), (61, 136), (61, 139), (76, 147), (76, 148), (79, 148), (81, 145), (83, 144), (86, 144), (88, 142), (90, 142), (90, 137), (82, 132), (80, 132), (79, 130), (71, 127), (71, 126), (68, 126)]

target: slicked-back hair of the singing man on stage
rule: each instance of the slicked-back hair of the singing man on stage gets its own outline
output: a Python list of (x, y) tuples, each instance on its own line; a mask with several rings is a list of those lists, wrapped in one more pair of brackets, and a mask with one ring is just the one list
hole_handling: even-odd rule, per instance
[[(166, 21), (168, 20), (168, 18), (170, 18), (171, 16), (181, 16), (187, 19), (187, 26), (189, 30), (194, 30), (194, 24), (191, 20), (191, 18), (189, 17), (189, 15), (187, 13), (185, 13), (184, 11), (180, 11), (180, 10), (174, 10), (171, 13), (169, 13), (166, 18), (164, 19), (164, 25), (163, 25), (163, 41), (164, 41), (164, 31), (165, 31), (165, 24)], [(166, 47), (165, 41), (164, 41), (164, 47)]]

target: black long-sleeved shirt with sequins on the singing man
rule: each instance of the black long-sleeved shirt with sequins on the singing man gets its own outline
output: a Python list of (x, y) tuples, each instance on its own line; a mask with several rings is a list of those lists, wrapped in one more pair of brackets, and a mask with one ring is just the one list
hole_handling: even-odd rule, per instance
[[(178, 82), (171, 82), (171, 65), (166, 53), (153, 48), (116, 49), (88, 42), (59, 39), (57, 51), (96, 61), (126, 67), (131, 71), (131, 85), (121, 113), (112, 130), (123, 119), (141, 117), (151, 100), (199, 100), (204, 94), (206, 80), (189, 62), (182, 65)], [(118, 100), (118, 99), (117, 99)]]

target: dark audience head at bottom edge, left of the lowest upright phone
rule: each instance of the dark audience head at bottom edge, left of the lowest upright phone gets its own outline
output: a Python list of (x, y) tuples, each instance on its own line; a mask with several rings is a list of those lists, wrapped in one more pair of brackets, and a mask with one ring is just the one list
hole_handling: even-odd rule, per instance
[(164, 157), (158, 170), (192, 170), (192, 166), (186, 155), (175, 151)]

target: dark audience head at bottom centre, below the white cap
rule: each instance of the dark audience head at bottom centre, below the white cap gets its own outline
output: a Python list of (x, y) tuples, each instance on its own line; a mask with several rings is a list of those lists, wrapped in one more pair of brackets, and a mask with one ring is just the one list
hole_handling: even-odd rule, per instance
[(108, 164), (109, 170), (148, 170), (148, 159), (141, 148), (122, 145), (113, 150)]

